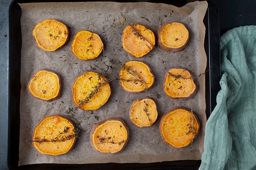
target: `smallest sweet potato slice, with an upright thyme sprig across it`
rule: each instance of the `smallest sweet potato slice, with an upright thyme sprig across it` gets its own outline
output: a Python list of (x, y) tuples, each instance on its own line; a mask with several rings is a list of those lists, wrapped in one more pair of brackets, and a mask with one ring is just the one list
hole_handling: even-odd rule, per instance
[(156, 121), (156, 118), (156, 103), (153, 98), (142, 98), (133, 102), (130, 119), (136, 126), (150, 126)]

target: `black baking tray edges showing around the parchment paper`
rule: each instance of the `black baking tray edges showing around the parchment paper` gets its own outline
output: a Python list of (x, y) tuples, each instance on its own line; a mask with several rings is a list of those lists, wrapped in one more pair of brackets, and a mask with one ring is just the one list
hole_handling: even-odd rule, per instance
[[(82, 0), (74, 0), (76, 2)], [(104, 0), (89, 0), (104, 1)], [(108, 0), (111, 1), (111, 0)], [(112, 0), (113, 1), (113, 0)], [(140, 0), (114, 0), (115, 2), (138, 2)], [(141, 0), (144, 1), (144, 0)], [(148, 0), (153, 3), (167, 3), (181, 7), (194, 0)], [(201, 160), (182, 160), (156, 163), (100, 163), (100, 164), (31, 164), (18, 167), (19, 131), (20, 131), (20, 59), (21, 59), (21, 8), (18, 3), (29, 2), (72, 2), (72, 0), (14, 0), (9, 8), (9, 134), (8, 167), (9, 169), (198, 169)], [(206, 73), (206, 116), (210, 116), (216, 106), (216, 96), (220, 90), (220, 28), (218, 4), (216, 0), (207, 0), (208, 9), (204, 16), (206, 36), (204, 48), (207, 55)]]

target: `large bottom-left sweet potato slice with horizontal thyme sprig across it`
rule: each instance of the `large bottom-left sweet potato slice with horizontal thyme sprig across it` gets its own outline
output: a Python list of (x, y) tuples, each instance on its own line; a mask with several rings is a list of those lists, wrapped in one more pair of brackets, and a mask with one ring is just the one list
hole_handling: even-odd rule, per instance
[(32, 141), (40, 153), (56, 156), (71, 150), (77, 135), (71, 121), (55, 115), (44, 118), (35, 127)]

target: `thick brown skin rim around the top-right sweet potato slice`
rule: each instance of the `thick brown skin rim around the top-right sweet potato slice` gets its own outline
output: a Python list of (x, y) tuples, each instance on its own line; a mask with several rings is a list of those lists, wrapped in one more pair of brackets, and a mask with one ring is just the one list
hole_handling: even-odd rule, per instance
[[(176, 22), (176, 21), (174, 21)], [(178, 52), (178, 51), (181, 51), (185, 48), (185, 46), (188, 44), (188, 41), (189, 41), (189, 32), (188, 32), (188, 39), (186, 41), (186, 43), (181, 46), (181, 47), (178, 47), (178, 48), (172, 48), (172, 47), (167, 47), (165, 45), (163, 45), (162, 41), (161, 41), (161, 32), (163, 30), (163, 28), (168, 25), (168, 24), (171, 24), (171, 23), (174, 23), (174, 22), (169, 22), (167, 24), (164, 24), (162, 25), (156, 32), (156, 38), (157, 38), (157, 46), (159, 46), (160, 49), (164, 50), (164, 51), (170, 51), (170, 52)], [(176, 22), (176, 23), (181, 23), (183, 24), (182, 22)], [(188, 30), (187, 26), (185, 24), (183, 24), (184, 27)]]

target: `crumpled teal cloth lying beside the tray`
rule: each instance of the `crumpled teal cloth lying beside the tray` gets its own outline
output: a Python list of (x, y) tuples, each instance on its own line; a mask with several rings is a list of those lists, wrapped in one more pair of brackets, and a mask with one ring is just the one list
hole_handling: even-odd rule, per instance
[(256, 169), (256, 26), (221, 37), (221, 72), (200, 170)]

